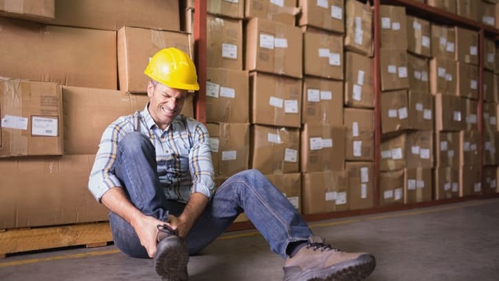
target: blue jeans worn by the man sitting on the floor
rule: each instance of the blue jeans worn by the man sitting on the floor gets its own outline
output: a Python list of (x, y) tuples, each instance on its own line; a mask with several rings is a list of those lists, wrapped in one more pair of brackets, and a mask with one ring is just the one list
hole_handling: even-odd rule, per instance
[[(180, 215), (185, 204), (167, 200), (156, 171), (156, 155), (150, 139), (141, 133), (128, 133), (118, 144), (116, 176), (130, 202), (145, 215), (166, 221), (167, 215)], [(236, 217), (245, 213), (270, 245), (286, 258), (289, 242), (305, 241), (312, 235), (296, 209), (265, 176), (257, 170), (236, 173), (225, 180), (212, 196), (205, 211), (187, 233), (190, 255), (196, 254), (227, 229)], [(114, 244), (123, 253), (147, 258), (132, 226), (110, 213)]]

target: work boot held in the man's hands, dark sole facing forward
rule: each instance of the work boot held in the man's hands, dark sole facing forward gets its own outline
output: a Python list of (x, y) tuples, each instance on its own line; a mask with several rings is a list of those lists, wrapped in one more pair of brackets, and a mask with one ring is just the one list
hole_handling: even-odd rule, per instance
[(154, 270), (165, 281), (189, 279), (187, 240), (179, 237), (170, 226), (158, 225), (158, 246), (154, 254)]

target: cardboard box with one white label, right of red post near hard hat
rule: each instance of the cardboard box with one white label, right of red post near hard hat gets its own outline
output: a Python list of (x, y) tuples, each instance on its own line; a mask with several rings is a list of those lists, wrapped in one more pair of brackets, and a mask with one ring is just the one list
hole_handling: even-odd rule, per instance
[(243, 70), (243, 20), (206, 16), (208, 67)]

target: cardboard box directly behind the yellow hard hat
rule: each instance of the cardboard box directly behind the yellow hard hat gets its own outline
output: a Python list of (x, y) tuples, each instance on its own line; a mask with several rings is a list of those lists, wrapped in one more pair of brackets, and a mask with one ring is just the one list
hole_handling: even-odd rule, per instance
[(118, 30), (119, 90), (147, 93), (150, 77), (144, 74), (144, 70), (150, 57), (167, 47), (179, 48), (192, 58), (187, 33), (128, 26)]

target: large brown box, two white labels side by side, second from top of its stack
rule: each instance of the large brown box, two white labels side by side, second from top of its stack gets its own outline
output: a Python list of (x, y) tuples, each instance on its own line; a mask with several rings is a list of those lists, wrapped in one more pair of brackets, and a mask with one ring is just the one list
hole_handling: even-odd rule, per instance
[(247, 22), (245, 32), (245, 70), (302, 77), (303, 35), (300, 28), (254, 18)]

